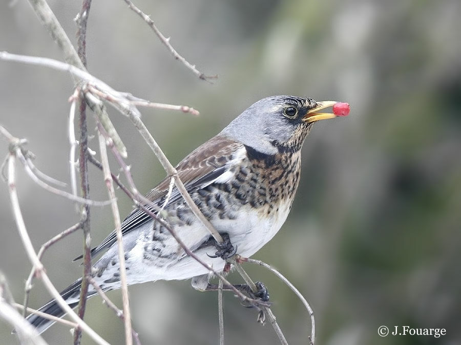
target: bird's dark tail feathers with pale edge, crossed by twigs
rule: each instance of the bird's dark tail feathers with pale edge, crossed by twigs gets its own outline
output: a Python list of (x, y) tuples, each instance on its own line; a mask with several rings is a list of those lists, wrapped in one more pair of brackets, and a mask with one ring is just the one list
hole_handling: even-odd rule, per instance
[[(69, 305), (71, 308), (75, 308), (78, 305), (78, 300), (80, 297), (80, 289), (81, 289), (81, 278), (68, 286), (64, 291), (61, 291), (60, 295), (66, 303)], [(89, 297), (94, 295), (94, 292), (89, 293)], [(48, 302), (46, 305), (38, 309), (38, 311), (56, 316), (56, 317), (62, 317), (66, 315), (66, 312), (59, 307), (59, 304), (56, 302), (56, 300), (51, 300)], [(55, 323), (55, 321), (50, 320), (48, 318), (38, 316), (36, 314), (30, 314), (26, 318), (29, 323), (34, 326), (37, 330), (38, 333), (45, 332), (51, 325)]]

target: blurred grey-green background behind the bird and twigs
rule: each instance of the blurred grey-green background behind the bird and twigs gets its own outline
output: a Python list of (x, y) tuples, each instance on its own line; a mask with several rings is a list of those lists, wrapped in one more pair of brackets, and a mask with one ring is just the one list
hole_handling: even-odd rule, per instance
[[(348, 118), (317, 124), (303, 148), (299, 191), (279, 234), (254, 258), (278, 268), (311, 304), (318, 344), (461, 343), (461, 2), (439, 0), (151, 2), (136, 4), (213, 84), (174, 60), (122, 1), (95, 1), (88, 24), (88, 69), (117, 90), (155, 102), (184, 104), (199, 117), (141, 109), (143, 121), (173, 164), (218, 133), (247, 106), (271, 95), (349, 102)], [(79, 1), (50, 1), (75, 42)], [(25, 1), (0, 5), (0, 50), (62, 60)], [(29, 140), (36, 166), (69, 181), (69, 75), (0, 61), (0, 122)], [(128, 119), (110, 109), (128, 147), (139, 190), (164, 177)], [(91, 118), (91, 117), (90, 117)], [(94, 131), (91, 120), (90, 129)], [(7, 154), (2, 141), (0, 153)], [(97, 140), (90, 146), (97, 149)], [(114, 162), (112, 162), (114, 163)], [(112, 165), (114, 171), (117, 165)], [(78, 216), (67, 199), (37, 187), (18, 167), (18, 192), (35, 248)], [(91, 197), (107, 199), (91, 167)], [(121, 214), (131, 202), (118, 192)], [(31, 265), (0, 183), (0, 270), (22, 303)], [(113, 228), (110, 208), (92, 208), (92, 243)], [(44, 264), (58, 289), (81, 267), (81, 233), (50, 248)], [(260, 267), (246, 265), (269, 288), (290, 344), (305, 344), (310, 319), (297, 297)], [(231, 279), (238, 283), (237, 275)], [(119, 291), (109, 293), (119, 306)], [(189, 282), (130, 287), (133, 327), (143, 344), (216, 344), (217, 297)], [(30, 306), (49, 300), (36, 282)], [(122, 322), (98, 297), (86, 321), (123, 343)], [(277, 344), (256, 311), (224, 298), (226, 343)], [(445, 328), (447, 335), (380, 337), (385, 325)], [(0, 321), (0, 343), (15, 343)], [(44, 338), (71, 343), (66, 327)], [(83, 336), (83, 343), (91, 340)]]

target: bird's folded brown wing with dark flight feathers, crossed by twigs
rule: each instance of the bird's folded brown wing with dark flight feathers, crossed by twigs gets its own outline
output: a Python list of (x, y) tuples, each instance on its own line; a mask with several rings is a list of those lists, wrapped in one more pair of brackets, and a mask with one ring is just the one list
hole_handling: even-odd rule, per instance
[[(243, 145), (227, 139), (224, 136), (216, 135), (203, 145), (192, 151), (176, 166), (179, 178), (184, 183), (188, 192), (204, 188), (212, 183), (226, 171), (225, 164), (233, 158), (233, 153), (242, 148)], [(170, 178), (163, 179), (154, 189), (152, 189), (146, 198), (152, 200), (154, 204), (162, 205), (166, 194), (169, 190)], [(170, 203), (176, 202), (181, 198), (177, 188), (173, 188)], [(121, 224), (122, 234), (127, 234), (138, 226), (149, 221), (151, 217), (142, 210), (135, 209)], [(103, 249), (107, 249), (116, 242), (115, 231), (102, 241), (97, 247), (91, 250), (92, 257), (97, 255)], [(82, 256), (75, 258), (80, 259)]]

